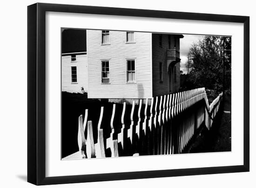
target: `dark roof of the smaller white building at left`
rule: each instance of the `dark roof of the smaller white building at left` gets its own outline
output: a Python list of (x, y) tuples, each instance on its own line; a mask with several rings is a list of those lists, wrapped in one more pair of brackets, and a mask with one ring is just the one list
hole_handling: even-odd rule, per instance
[(62, 54), (86, 52), (86, 30), (64, 29), (62, 31)]

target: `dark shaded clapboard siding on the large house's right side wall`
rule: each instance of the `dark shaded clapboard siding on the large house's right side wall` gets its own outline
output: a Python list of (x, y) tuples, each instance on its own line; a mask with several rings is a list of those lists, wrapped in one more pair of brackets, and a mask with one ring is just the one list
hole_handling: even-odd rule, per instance
[[(167, 67), (167, 49), (168, 34), (162, 34), (162, 46), (159, 45), (159, 35), (152, 34), (152, 83), (153, 83), (153, 97), (168, 94), (169, 92), (169, 81), (168, 81), (168, 67)], [(176, 40), (176, 49), (179, 50), (179, 38), (175, 35), (171, 36), (171, 49), (174, 49), (174, 40)], [(160, 62), (162, 62), (162, 82), (160, 81)], [(178, 92), (180, 87), (180, 63), (177, 63), (177, 81), (173, 84), (172, 92)], [(175, 70), (175, 69), (174, 69)]]

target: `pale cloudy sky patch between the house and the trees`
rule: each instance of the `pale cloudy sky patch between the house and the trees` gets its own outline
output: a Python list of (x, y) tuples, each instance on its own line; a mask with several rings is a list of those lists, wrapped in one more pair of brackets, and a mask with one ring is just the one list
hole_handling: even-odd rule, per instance
[(180, 39), (180, 58), (181, 58), (181, 70), (183, 73), (187, 73), (185, 63), (188, 60), (189, 49), (193, 43), (196, 43), (203, 35), (195, 34), (183, 34), (184, 38)]

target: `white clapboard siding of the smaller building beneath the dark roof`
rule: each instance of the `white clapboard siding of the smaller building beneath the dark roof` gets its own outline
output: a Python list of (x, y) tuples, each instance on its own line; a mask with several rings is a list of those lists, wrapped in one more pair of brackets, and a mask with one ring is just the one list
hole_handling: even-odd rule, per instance
[[(81, 87), (88, 91), (87, 54), (76, 54), (76, 61), (71, 55), (61, 57), (61, 91), (81, 93)], [(71, 67), (76, 67), (77, 83), (71, 81)]]

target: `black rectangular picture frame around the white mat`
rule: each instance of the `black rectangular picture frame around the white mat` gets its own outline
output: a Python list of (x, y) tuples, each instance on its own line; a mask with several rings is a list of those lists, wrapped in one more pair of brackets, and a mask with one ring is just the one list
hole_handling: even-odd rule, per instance
[[(243, 23), (243, 165), (46, 177), (46, 12)], [(35, 185), (249, 171), (249, 17), (36, 3), (27, 7), (27, 181)]]

